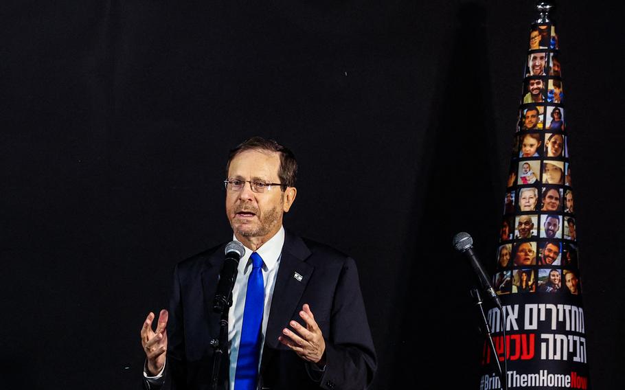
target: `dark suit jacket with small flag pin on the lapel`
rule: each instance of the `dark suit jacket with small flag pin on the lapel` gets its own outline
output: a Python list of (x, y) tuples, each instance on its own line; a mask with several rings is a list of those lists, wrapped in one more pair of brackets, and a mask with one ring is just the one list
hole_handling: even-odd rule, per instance
[[(219, 336), (219, 315), (213, 312), (212, 303), (224, 246), (190, 257), (175, 268), (163, 389), (209, 389), (214, 352), (210, 341)], [(301, 282), (295, 273), (303, 276)], [(314, 375), (306, 367), (309, 363), (277, 339), (291, 320), (305, 326), (298, 314), (304, 303), (310, 305), (326, 341), (322, 375)], [(226, 350), (220, 389), (228, 389), (228, 369)], [(266, 328), (259, 389), (365, 389), (375, 369), (354, 260), (287, 231)]]

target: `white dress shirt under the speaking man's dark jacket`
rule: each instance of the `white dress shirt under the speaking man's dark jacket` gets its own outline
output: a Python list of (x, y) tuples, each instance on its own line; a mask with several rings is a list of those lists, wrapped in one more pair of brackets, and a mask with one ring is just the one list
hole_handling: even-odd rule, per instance
[[(236, 237), (233, 238), (236, 240)], [(262, 340), (259, 362), (262, 361), (262, 346), (264, 346), (264, 335), (267, 329), (267, 321), (269, 320), (269, 309), (271, 308), (271, 299), (273, 297), (273, 287), (275, 286), (275, 277), (280, 266), (280, 257), (282, 256), (282, 246), (284, 246), (284, 227), (275, 235), (260, 246), (258, 255), (262, 258), (262, 280), (264, 285), (264, 308), (262, 311)], [(230, 344), (230, 368), (229, 380), (230, 390), (234, 390), (234, 377), (236, 374), (236, 360), (239, 356), (239, 343), (241, 340), (241, 328), (243, 325), (243, 311), (245, 310), (245, 295), (247, 292), (247, 279), (251, 273), (252, 266), (249, 257), (253, 251), (245, 246), (245, 255), (241, 257), (237, 268), (236, 281), (232, 289), (232, 307), (228, 316), (228, 341)], [(260, 363), (259, 363), (260, 364)], [(162, 384), (163, 372), (165, 365), (157, 376), (148, 376), (144, 369), (144, 376), (150, 383)]]

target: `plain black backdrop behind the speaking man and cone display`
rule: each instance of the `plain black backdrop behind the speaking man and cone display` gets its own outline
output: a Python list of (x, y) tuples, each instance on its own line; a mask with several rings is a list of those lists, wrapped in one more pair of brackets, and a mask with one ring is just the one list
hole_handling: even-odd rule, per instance
[[(533, 2), (181, 3), (1, 5), (1, 387), (136, 389), (172, 266), (230, 237), (227, 150), (264, 135), (300, 163), (286, 226), (356, 258), (374, 388), (477, 388), (451, 237), (492, 271)], [(625, 12), (590, 3), (556, 21), (602, 389), (625, 364)]]

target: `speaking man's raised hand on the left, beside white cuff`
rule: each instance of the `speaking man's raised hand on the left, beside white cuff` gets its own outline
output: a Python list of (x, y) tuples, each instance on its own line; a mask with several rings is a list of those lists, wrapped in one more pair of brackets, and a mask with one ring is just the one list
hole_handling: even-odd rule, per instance
[(167, 310), (161, 310), (157, 322), (157, 330), (152, 331), (154, 313), (150, 312), (143, 328), (141, 328), (141, 345), (144, 347), (148, 358), (148, 374), (157, 376), (165, 365), (165, 352), (167, 352)]

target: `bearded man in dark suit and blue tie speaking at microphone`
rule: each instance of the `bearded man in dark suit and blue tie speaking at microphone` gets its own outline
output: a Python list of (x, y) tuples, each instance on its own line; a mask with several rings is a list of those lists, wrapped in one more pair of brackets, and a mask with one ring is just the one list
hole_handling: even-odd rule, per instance
[[(238, 265), (218, 388), (365, 389), (376, 367), (354, 260), (285, 231), (297, 194), (293, 153), (260, 137), (231, 150), (226, 213)], [(224, 246), (179, 263), (170, 311), (141, 329), (150, 389), (209, 389)], [(258, 306), (258, 307), (257, 307)], [(313, 314), (314, 312), (314, 314)]]

